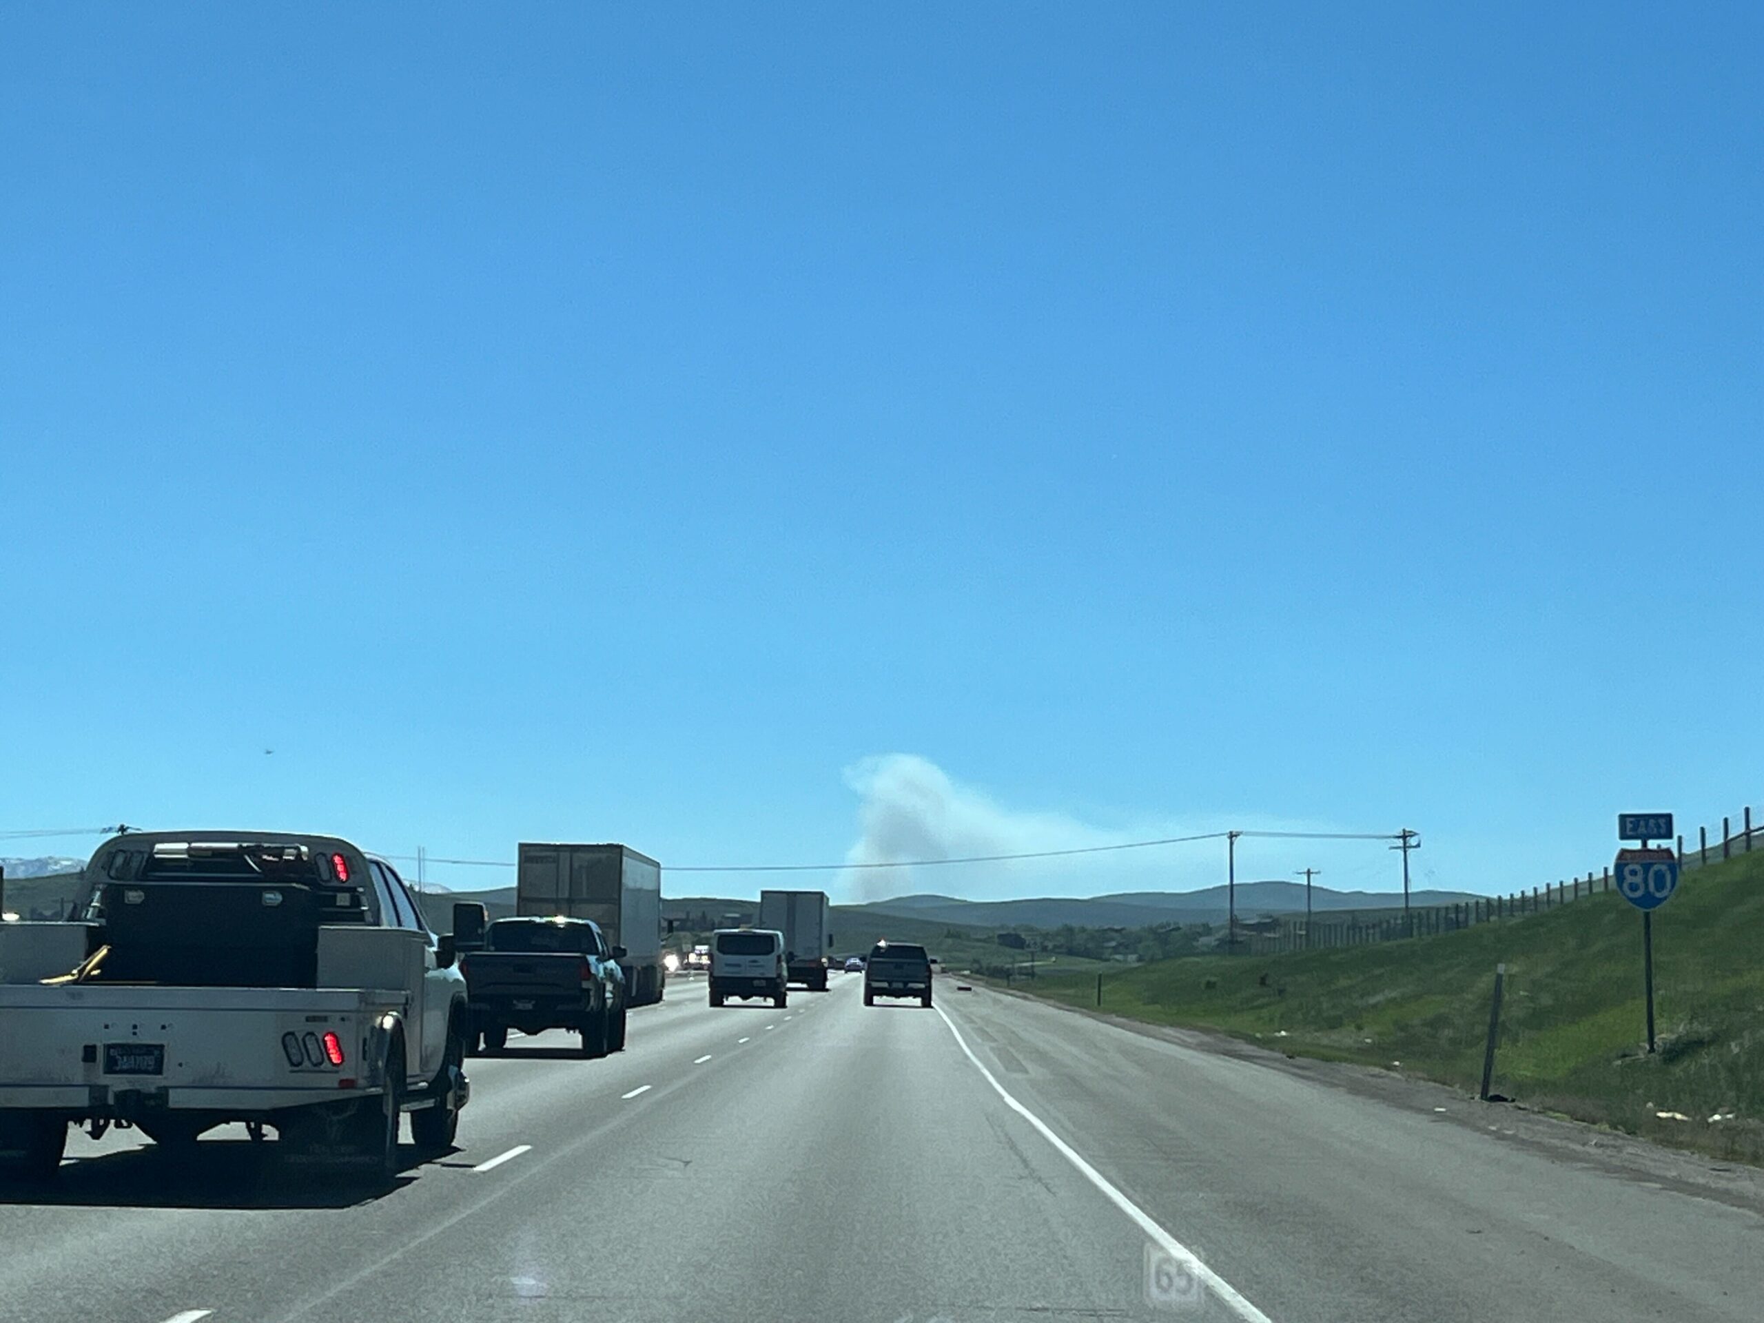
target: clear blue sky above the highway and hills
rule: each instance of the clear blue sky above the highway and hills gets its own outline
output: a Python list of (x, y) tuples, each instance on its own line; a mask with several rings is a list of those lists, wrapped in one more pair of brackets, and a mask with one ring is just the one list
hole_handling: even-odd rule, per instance
[(847, 9), (0, 19), (0, 829), (1764, 803), (1755, 7)]

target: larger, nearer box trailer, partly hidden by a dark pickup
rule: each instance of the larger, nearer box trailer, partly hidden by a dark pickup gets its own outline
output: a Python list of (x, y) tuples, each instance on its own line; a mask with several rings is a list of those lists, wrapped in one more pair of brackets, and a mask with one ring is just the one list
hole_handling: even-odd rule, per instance
[(623, 946), (626, 1005), (662, 1000), (662, 864), (628, 845), (520, 843), (515, 914), (593, 919)]

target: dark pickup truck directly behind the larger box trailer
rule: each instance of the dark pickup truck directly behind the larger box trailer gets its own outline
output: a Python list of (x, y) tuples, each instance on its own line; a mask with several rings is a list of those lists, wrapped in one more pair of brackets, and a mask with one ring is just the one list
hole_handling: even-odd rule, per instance
[(624, 1048), (624, 947), (609, 947), (589, 919), (497, 919), (460, 960), (471, 1005), (469, 1041), (508, 1046), (508, 1030), (570, 1028), (584, 1057)]

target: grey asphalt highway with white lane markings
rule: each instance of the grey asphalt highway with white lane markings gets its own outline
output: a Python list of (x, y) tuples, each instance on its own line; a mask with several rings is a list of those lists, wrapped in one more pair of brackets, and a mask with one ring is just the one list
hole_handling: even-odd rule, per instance
[(0, 1319), (1764, 1318), (1753, 1208), (947, 977), (676, 981), (624, 1053), (570, 1043), (475, 1058), (392, 1189), (74, 1136), (0, 1203)]

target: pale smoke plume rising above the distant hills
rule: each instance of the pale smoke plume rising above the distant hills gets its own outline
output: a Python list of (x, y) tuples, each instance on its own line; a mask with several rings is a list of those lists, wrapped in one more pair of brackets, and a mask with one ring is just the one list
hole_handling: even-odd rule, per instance
[[(981, 790), (961, 785), (930, 759), (916, 753), (884, 753), (845, 769), (845, 783), (863, 803), (857, 808), (857, 841), (845, 854), (848, 864), (891, 864), (908, 859), (961, 859), (975, 854), (1027, 854), (1073, 850), (1120, 840), (1060, 813), (1020, 813), (997, 804)], [(993, 875), (1013, 864), (961, 866), (953, 886), (931, 882), (908, 868), (848, 868), (836, 882), (845, 896), (882, 900), (917, 889), (968, 891), (974, 870)], [(951, 870), (953, 873), (956, 870)]]

